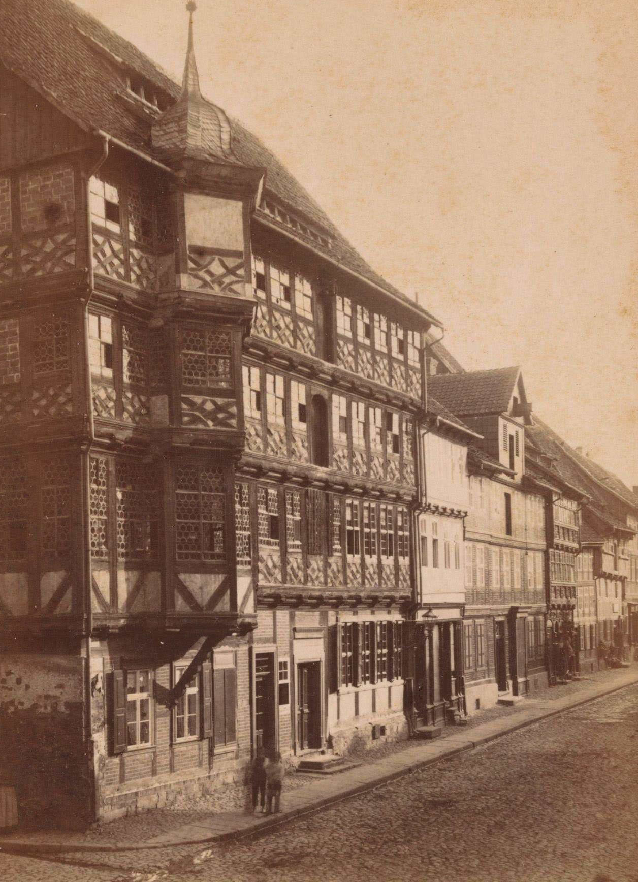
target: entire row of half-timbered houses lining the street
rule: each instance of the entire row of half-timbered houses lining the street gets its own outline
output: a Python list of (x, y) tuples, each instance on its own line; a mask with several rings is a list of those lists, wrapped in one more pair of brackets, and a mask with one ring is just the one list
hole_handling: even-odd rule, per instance
[[(638, 497), (278, 160), (67, 0), (0, 11), (0, 711), (23, 814), (435, 732), (638, 639)], [(575, 650), (568, 662), (567, 647)]]

